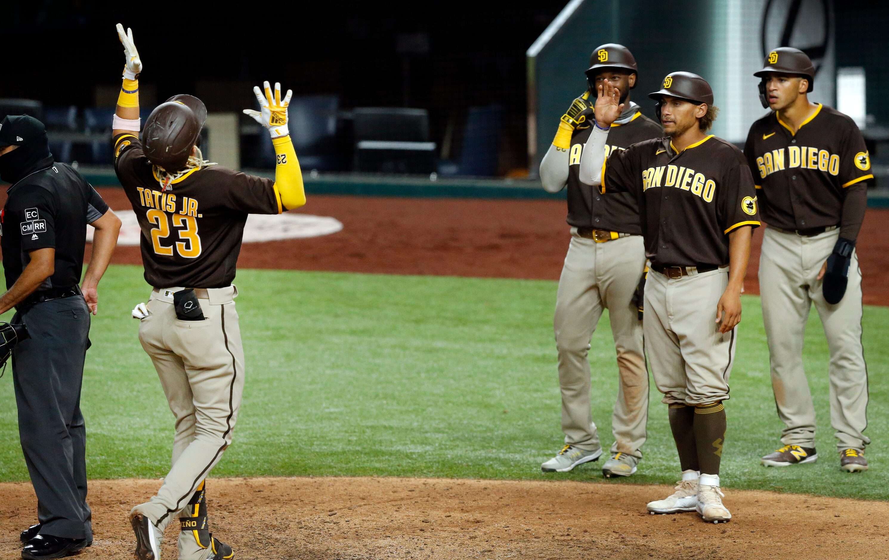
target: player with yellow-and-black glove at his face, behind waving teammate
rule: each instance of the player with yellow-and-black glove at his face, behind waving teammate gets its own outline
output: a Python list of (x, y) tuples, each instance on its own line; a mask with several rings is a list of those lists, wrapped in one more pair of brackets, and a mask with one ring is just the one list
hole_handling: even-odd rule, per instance
[[(624, 111), (611, 124), (605, 153), (661, 136), (661, 125), (644, 116), (629, 92), (636, 85), (636, 60), (621, 44), (603, 44), (590, 57), (589, 90), (573, 101), (559, 122), (556, 139), (541, 162), (541, 182), (549, 192), (568, 187), (571, 244), (559, 278), (555, 331), (562, 431), (565, 446), (543, 463), (545, 472), (569, 471), (602, 454), (590, 410), (589, 340), (603, 309), (609, 310), (620, 375), (614, 404), (611, 458), (605, 476), (630, 476), (642, 459), (648, 417), (648, 370), (642, 324), (633, 289), (645, 268), (645, 247), (636, 198), (629, 193), (603, 196), (578, 179), (583, 146), (593, 127), (596, 85), (611, 82), (621, 92)], [(594, 98), (595, 99), (595, 98)]]

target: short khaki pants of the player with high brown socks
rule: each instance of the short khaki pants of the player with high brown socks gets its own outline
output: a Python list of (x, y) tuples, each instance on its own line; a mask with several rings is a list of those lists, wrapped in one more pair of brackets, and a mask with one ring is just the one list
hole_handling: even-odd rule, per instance
[(728, 267), (681, 278), (649, 270), (645, 349), (665, 404), (701, 406), (728, 398), (738, 327), (719, 332), (717, 305)]

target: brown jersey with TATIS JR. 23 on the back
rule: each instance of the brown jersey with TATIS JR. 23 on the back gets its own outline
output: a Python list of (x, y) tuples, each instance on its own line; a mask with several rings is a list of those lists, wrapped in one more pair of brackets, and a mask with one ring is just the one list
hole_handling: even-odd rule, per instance
[(163, 190), (140, 140), (118, 134), (115, 171), (142, 230), (145, 280), (156, 288), (223, 288), (235, 279), (247, 214), (276, 214), (275, 181), (219, 165)]

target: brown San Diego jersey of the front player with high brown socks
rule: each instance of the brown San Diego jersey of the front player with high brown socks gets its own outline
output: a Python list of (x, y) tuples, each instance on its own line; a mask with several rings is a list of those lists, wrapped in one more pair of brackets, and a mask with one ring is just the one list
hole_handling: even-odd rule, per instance
[(669, 138), (616, 150), (605, 160), (601, 190), (636, 196), (645, 255), (655, 266), (728, 264), (729, 232), (759, 226), (744, 155), (713, 135), (678, 153)]

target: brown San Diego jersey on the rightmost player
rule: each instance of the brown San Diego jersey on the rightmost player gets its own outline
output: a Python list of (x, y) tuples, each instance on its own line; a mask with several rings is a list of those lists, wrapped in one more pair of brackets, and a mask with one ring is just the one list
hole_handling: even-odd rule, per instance
[(838, 226), (844, 188), (873, 179), (854, 121), (819, 104), (794, 134), (772, 112), (750, 126), (744, 146), (763, 219), (781, 229)]

